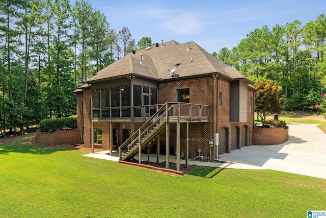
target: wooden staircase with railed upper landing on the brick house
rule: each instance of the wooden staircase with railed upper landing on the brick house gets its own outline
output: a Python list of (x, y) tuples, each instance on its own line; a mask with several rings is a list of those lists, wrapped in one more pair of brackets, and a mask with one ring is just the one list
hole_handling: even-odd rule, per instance
[(208, 122), (209, 106), (166, 103), (119, 147), (119, 160), (127, 160), (155, 139), (167, 125), (176, 122)]

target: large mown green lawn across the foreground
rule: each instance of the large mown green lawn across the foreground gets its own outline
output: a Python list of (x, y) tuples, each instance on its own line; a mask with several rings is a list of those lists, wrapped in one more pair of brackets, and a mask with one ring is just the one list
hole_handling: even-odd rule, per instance
[(29, 140), (0, 144), (0, 217), (306, 217), (326, 209), (324, 179), (210, 167), (181, 177)]

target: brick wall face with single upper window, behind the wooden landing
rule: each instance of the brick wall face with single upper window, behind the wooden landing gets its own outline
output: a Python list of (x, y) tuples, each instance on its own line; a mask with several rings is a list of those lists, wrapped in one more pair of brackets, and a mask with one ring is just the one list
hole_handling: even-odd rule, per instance
[[(158, 89), (158, 103), (177, 101), (177, 89), (189, 89), (189, 103), (209, 105), (208, 123), (189, 123), (189, 157), (196, 157), (198, 149), (202, 150), (206, 156), (209, 155), (208, 143), (213, 140), (214, 132), (216, 132), (216, 120), (212, 117), (216, 116), (216, 77), (204, 77), (197, 79), (189, 79), (182, 81), (171, 81), (160, 83)], [(185, 125), (181, 124), (180, 128), (180, 152), (185, 151)], [(160, 146), (166, 144), (166, 134), (160, 135)], [(170, 126), (170, 146), (176, 151), (176, 124)], [(212, 152), (213, 153), (213, 152)], [(216, 153), (216, 152), (215, 152)]]

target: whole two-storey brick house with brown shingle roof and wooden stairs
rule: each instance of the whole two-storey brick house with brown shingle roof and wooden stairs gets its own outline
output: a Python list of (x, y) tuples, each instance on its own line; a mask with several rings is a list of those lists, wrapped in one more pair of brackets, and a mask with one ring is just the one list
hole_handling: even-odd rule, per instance
[[(121, 160), (141, 150), (186, 160), (200, 150), (215, 159), (251, 144), (252, 84), (193, 41), (162, 41), (133, 51), (75, 90), (80, 141), (92, 151), (120, 148)], [(216, 141), (219, 146), (209, 146)]]

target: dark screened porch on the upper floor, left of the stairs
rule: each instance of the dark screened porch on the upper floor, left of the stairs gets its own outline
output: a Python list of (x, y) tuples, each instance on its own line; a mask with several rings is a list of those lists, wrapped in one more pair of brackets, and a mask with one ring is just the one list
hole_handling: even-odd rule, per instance
[(98, 122), (144, 122), (157, 105), (157, 82), (129, 78), (92, 84), (92, 118)]

